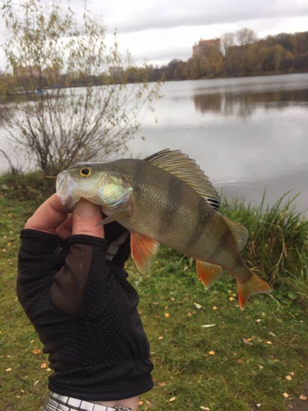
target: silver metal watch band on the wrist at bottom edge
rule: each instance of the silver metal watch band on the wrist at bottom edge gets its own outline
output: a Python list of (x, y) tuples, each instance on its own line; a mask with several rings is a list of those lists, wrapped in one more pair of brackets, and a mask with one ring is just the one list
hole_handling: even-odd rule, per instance
[(106, 407), (105, 405), (93, 404), (92, 402), (66, 397), (50, 391), (42, 411), (131, 411), (131, 408)]

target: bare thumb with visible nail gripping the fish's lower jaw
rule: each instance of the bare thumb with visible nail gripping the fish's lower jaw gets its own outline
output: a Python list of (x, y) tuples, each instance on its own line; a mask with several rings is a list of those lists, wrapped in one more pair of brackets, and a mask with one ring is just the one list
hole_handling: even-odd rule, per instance
[(100, 207), (82, 198), (73, 210), (72, 235), (86, 234), (105, 238), (104, 227), (96, 227), (101, 220)]

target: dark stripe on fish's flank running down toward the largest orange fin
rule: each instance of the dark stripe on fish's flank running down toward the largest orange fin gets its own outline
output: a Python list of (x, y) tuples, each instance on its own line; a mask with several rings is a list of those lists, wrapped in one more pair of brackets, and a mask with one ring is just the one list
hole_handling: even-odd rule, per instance
[(181, 204), (179, 201), (176, 201), (177, 197), (181, 197), (181, 188), (183, 182), (169, 174), (169, 183), (168, 183), (168, 192), (166, 198), (166, 207), (164, 208), (164, 212), (162, 214), (159, 233), (165, 234), (172, 228), (172, 222), (175, 220)]

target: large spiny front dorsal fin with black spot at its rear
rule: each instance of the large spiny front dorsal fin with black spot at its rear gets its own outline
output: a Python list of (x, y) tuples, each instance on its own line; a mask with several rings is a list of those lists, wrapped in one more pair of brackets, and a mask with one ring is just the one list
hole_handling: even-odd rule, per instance
[(180, 150), (170, 151), (169, 148), (158, 153), (152, 154), (145, 158), (145, 161), (151, 162), (162, 170), (167, 171), (177, 176), (182, 181), (185, 181), (192, 189), (194, 189), (208, 204), (218, 210), (220, 204), (219, 194), (196, 164), (195, 160), (191, 160), (186, 154)]

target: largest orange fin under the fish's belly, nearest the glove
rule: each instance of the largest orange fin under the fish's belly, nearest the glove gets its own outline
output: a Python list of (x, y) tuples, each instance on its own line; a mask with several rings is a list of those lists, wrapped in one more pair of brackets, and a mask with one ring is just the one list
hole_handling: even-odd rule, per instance
[(146, 273), (155, 261), (159, 242), (142, 234), (130, 233), (130, 249), (138, 270)]

